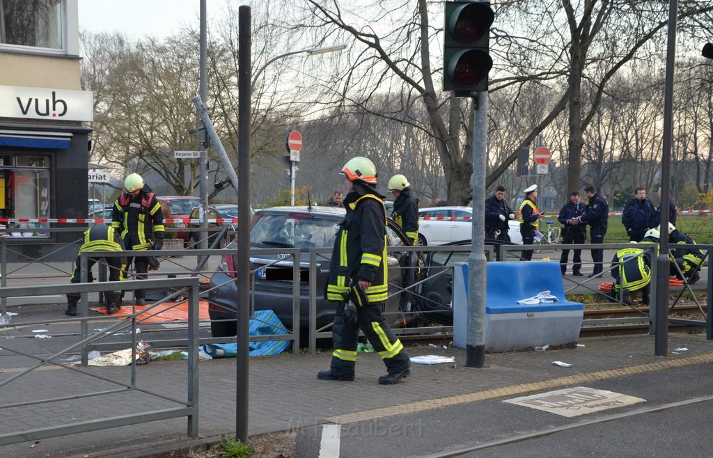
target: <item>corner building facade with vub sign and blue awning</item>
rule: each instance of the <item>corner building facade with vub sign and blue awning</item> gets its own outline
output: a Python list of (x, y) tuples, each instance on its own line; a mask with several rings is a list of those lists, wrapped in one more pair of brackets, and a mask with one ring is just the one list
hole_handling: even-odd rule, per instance
[(8, 261), (72, 259), (76, 249), (66, 244), (79, 231), (33, 220), (87, 216), (93, 96), (81, 90), (77, 8), (77, 0), (0, 1), (0, 236)]

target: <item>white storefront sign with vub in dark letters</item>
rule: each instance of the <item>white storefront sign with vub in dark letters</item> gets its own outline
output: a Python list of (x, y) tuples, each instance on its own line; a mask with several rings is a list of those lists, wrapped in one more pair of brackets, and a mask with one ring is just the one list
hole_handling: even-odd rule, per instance
[(0, 118), (93, 121), (93, 93), (0, 85)]

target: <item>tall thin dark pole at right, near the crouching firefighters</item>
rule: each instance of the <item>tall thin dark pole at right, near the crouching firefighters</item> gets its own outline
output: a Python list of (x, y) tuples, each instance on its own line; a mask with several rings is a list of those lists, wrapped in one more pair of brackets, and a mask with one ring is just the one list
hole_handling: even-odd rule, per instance
[(666, 51), (666, 81), (664, 89), (664, 135), (661, 158), (661, 239), (657, 257), (656, 275), (656, 316), (655, 351), (656, 356), (668, 354), (668, 303), (669, 303), (669, 258), (668, 219), (671, 183), (671, 145), (673, 136), (673, 77), (676, 55), (676, 15), (678, 0), (669, 3), (668, 43)]

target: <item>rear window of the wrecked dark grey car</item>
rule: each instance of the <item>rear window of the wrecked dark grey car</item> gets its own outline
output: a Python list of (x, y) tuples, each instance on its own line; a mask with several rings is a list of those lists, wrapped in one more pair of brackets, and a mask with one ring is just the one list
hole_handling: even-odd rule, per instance
[(250, 244), (263, 248), (332, 248), (340, 219), (304, 214), (260, 214), (250, 229)]

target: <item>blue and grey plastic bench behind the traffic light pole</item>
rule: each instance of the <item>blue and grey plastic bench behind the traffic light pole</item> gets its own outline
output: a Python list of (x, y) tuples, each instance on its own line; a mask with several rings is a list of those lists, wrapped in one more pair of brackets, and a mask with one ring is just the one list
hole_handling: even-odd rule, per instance
[[(453, 280), (453, 345), (466, 348), (468, 264), (456, 264)], [(542, 291), (559, 301), (518, 304)], [(486, 351), (527, 350), (535, 346), (577, 344), (584, 306), (565, 298), (556, 262), (488, 262), (486, 283)]]

